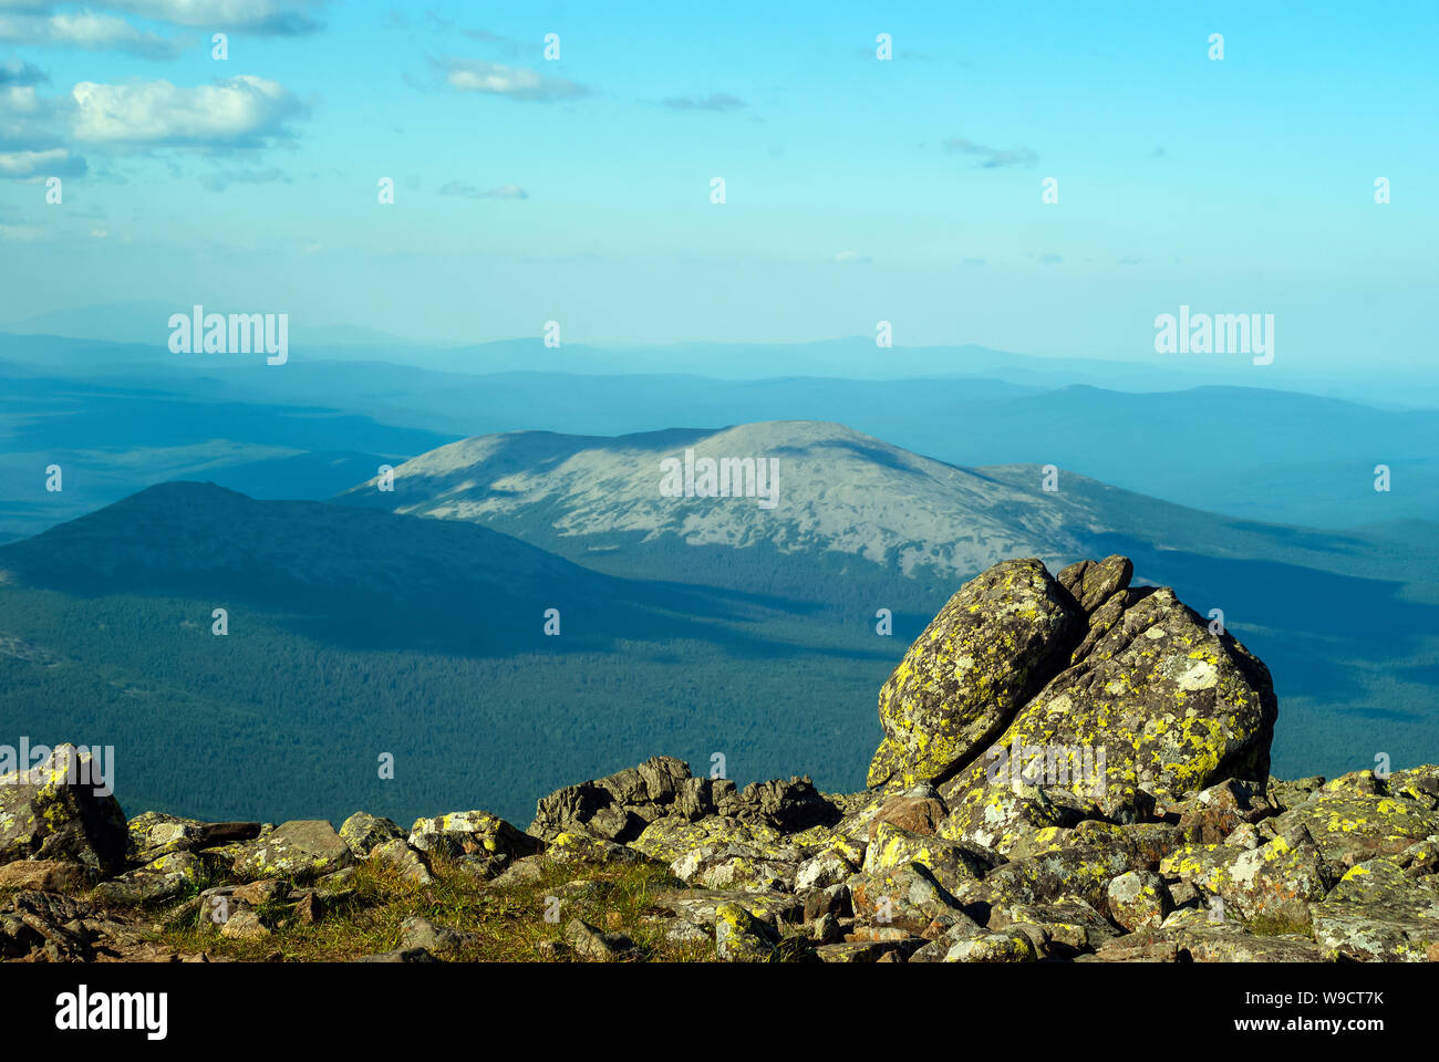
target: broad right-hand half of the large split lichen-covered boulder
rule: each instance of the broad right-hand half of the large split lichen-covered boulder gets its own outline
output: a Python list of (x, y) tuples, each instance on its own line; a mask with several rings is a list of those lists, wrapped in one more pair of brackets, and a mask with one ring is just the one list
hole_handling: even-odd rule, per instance
[(1225, 779), (1263, 783), (1276, 717), (1258, 658), (1210, 633), (1173, 590), (1145, 593), (941, 786), (941, 833), (993, 835), (996, 794), (1023, 786), (1075, 817), (1135, 822)]

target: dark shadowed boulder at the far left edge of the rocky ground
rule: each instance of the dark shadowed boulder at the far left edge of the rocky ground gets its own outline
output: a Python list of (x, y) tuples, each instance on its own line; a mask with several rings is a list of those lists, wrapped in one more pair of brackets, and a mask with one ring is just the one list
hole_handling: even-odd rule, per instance
[(130, 835), (119, 803), (102, 790), (95, 760), (69, 744), (27, 771), (0, 776), (0, 863), (58, 859), (118, 871)]

